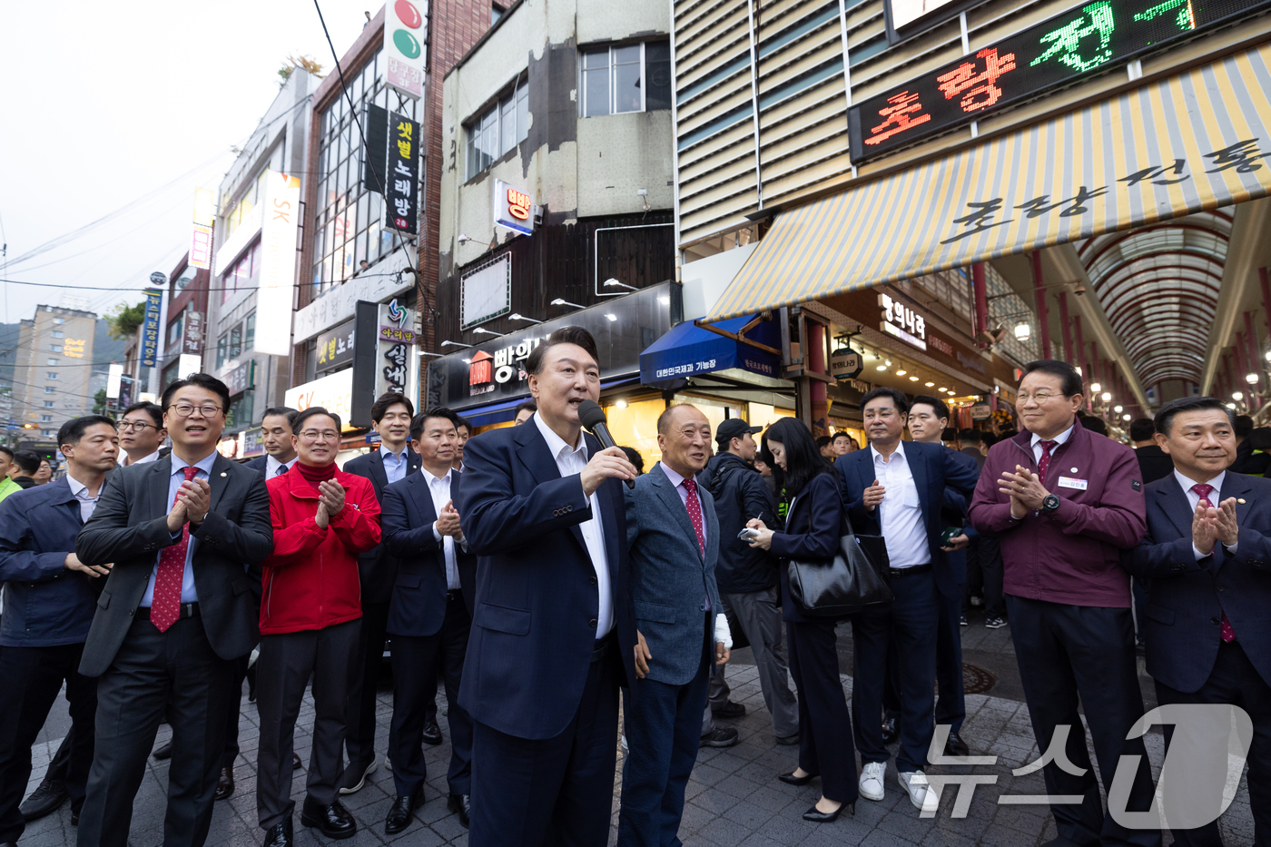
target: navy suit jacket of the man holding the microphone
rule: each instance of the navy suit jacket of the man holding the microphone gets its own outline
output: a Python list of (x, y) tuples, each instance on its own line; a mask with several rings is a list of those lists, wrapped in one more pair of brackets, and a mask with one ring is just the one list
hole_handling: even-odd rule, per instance
[[(600, 443), (587, 439), (587, 454)], [(627, 678), (636, 678), (623, 483), (596, 490)], [(464, 445), (455, 499), (477, 554), (477, 605), (460, 705), (473, 720), (524, 739), (555, 738), (578, 711), (596, 641), (600, 594), (578, 524), (591, 505), (578, 474), (561, 477), (531, 421)]]

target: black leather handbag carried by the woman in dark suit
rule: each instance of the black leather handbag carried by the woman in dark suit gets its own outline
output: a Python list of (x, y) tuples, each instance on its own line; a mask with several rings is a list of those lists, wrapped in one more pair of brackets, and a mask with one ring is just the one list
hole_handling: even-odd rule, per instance
[(887, 542), (882, 535), (857, 535), (852, 519), (844, 515), (844, 521), (846, 534), (839, 538), (834, 558), (789, 562), (791, 600), (805, 617), (845, 618), (892, 600), (883, 577), (890, 566)]

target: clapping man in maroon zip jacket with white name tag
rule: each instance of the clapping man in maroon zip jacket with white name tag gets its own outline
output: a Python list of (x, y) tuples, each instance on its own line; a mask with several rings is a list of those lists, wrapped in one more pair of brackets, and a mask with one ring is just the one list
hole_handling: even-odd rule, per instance
[(1159, 830), (1127, 829), (1103, 813), (1077, 711), (1079, 701), (1110, 796), (1121, 757), (1140, 757), (1125, 810), (1145, 811), (1146, 749), (1141, 736), (1126, 740), (1143, 693), (1121, 551), (1143, 538), (1148, 510), (1134, 450), (1083, 429), (1083, 402), (1068, 362), (1024, 368), (1016, 402), (1024, 431), (989, 450), (971, 523), (1002, 543), (1019, 678), (1037, 749), (1051, 759), (1042, 773), (1059, 837), (1047, 844), (1155, 847)]

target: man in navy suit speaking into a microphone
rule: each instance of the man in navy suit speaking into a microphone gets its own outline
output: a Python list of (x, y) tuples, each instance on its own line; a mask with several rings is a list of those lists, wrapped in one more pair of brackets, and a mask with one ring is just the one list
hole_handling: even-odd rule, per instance
[(618, 687), (634, 679), (622, 482), (636, 468), (582, 431), (596, 342), (562, 327), (525, 362), (538, 411), (464, 448), (455, 505), (477, 554), (459, 703), (473, 717), (472, 847), (604, 844)]

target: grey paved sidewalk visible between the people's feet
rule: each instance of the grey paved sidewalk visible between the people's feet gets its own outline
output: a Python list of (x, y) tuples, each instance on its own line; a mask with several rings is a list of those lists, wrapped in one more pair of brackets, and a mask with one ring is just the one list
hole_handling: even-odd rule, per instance
[[(974, 628), (974, 627), (972, 627)], [(1000, 642), (1000, 635), (994, 632), (993, 641)], [(989, 645), (980, 645), (988, 647)], [(998, 646), (993, 646), (996, 650)], [(749, 652), (749, 651), (746, 651)], [(745, 652), (741, 654), (744, 656)], [(1045, 787), (1040, 773), (1026, 777), (1013, 777), (1010, 769), (1038, 757), (1033, 744), (1028, 712), (1023, 703), (994, 696), (967, 696), (967, 721), (963, 738), (972, 753), (996, 755), (993, 767), (977, 768), (932, 768), (932, 773), (975, 772), (994, 775), (996, 785), (980, 786), (967, 815), (955, 819), (953, 788), (942, 797), (939, 813), (932, 819), (921, 819), (919, 811), (909, 802), (896, 785), (895, 767), (887, 771), (886, 797), (881, 802), (859, 800), (854, 818), (844, 815), (833, 824), (810, 824), (801, 815), (820, 796), (820, 783), (793, 787), (777, 780), (777, 775), (789, 772), (797, 764), (797, 748), (777, 747), (771, 724), (763, 705), (758, 674), (752, 665), (736, 664), (728, 668), (728, 683), (733, 689), (733, 699), (746, 705), (747, 713), (737, 721), (727, 721), (740, 730), (741, 743), (736, 747), (717, 750), (703, 749), (698, 757), (697, 768), (688, 788), (688, 804), (680, 838), (685, 847), (789, 847), (793, 844), (821, 847), (822, 844), (863, 844), (866, 847), (961, 847), (963, 844), (984, 844), (986, 847), (1021, 847), (1040, 844), (1055, 836), (1054, 824), (1045, 806), (999, 805), (998, 797), (1005, 794), (1043, 794)], [(844, 677), (844, 689), (850, 697), (852, 679)], [(445, 702), (444, 698), (440, 701)], [(60, 710), (65, 702), (60, 701)], [(391, 694), (380, 692), (379, 698), (379, 736), (376, 747), (383, 752), (388, 743), (388, 722), (391, 713)], [(300, 712), (296, 733), (296, 749), (306, 754), (313, 724), (313, 703), (306, 699)], [(449, 739), (445, 719), (442, 730)], [(56, 726), (58, 721), (50, 721)], [(250, 847), (259, 844), (262, 830), (255, 823), (255, 748), (257, 711), (254, 703), (243, 703), (243, 727), (240, 743), (243, 754), (235, 767), (236, 791), (228, 801), (216, 804), (211, 833), (207, 843)], [(163, 727), (156, 744), (168, 739), (169, 731)], [(34, 750), (34, 771), (31, 788), (34, 788), (44, 772), (48, 757), (56, 752), (60, 738), (42, 738)], [(1153, 771), (1159, 772), (1163, 761), (1163, 736), (1159, 731), (1146, 736), (1148, 752)], [(353, 839), (341, 842), (348, 847), (358, 844), (383, 844), (395, 842), (412, 847), (433, 847), (436, 844), (466, 844), (466, 830), (455, 815), (446, 811), (445, 766), (450, 757), (447, 743), (436, 748), (425, 748), (428, 772), (435, 775), (426, 788), (426, 804), (417, 813), (418, 820), (405, 832), (386, 837), (384, 818), (391, 804), (391, 775), (384, 768), (383, 759), (371, 781), (358, 794), (343, 799), (358, 822), (358, 833)], [(620, 754), (620, 750), (619, 750)], [(383, 755), (383, 753), (381, 753)], [(1092, 754), (1093, 758), (1093, 754)], [(133, 811), (132, 838), (135, 847), (159, 847), (163, 843), (163, 815), (167, 791), (167, 763), (150, 759), (150, 768), (142, 783)], [(610, 843), (616, 842), (618, 795), (622, 788), (622, 761), (619, 761), (619, 780), (614, 791), (614, 823)], [(297, 804), (304, 797), (305, 771), (295, 773), (294, 797)], [(1248, 844), (1253, 841), (1253, 822), (1249, 811), (1248, 788), (1244, 780), (1232, 808), (1223, 819), (1224, 837), (1228, 844)], [(296, 843), (309, 847), (318, 843), (330, 843), (300, 825), (296, 814)], [(69, 847), (75, 844), (75, 828), (70, 824), (70, 809), (64, 806), (57, 814), (33, 822), (20, 842), (22, 847)], [(1166, 837), (1166, 843), (1171, 842)]]

